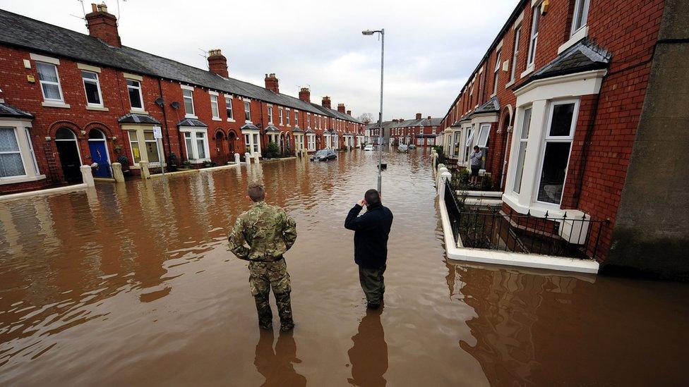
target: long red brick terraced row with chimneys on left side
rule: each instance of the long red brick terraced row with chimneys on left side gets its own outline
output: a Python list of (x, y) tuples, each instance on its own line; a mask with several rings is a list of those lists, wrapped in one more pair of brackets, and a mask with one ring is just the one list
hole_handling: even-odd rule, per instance
[(289, 155), (323, 149), (326, 133), (341, 133), (335, 149), (364, 135), (351, 112), (281, 94), (275, 74), (265, 87), (230, 78), (220, 50), (202, 70), (123, 46), (104, 4), (85, 18), (89, 35), (0, 10), (0, 194), (80, 182), (84, 164), (109, 178), (125, 161), (136, 176), (142, 160), (155, 173), (264, 156), (269, 142)]

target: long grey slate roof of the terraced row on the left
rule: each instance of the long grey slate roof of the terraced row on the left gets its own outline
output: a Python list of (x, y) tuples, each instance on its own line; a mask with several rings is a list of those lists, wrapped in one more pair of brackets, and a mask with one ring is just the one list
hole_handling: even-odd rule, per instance
[[(1, 9), (0, 43), (23, 47), (40, 54), (63, 56), (80, 62), (176, 80), (189, 85), (323, 114), (320, 109), (315, 109), (313, 104), (286, 94), (276, 94), (264, 87), (234, 78), (223, 78), (208, 70), (188, 66), (131, 47), (112, 47), (95, 37)], [(360, 123), (352, 116), (338, 111), (327, 114)]]

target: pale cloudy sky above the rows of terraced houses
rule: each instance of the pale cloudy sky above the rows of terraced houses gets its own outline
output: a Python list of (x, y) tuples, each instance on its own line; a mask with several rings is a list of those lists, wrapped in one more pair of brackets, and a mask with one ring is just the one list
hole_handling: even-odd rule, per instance
[[(102, 0), (98, 0), (99, 2)], [(90, 0), (84, 0), (86, 11)], [(126, 46), (207, 68), (201, 50), (222, 49), (230, 76), (263, 86), (265, 73), (296, 97), (330, 95), (333, 107), (378, 116), (385, 28), (384, 116), (444, 116), (517, 0), (311, 1), (117, 0)], [(0, 0), (0, 8), (87, 33), (78, 0)]]

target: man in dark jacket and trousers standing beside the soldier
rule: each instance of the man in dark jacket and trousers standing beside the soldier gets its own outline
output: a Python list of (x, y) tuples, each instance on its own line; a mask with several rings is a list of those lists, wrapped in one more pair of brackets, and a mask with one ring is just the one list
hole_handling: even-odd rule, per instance
[[(366, 205), (366, 213), (359, 212)], [(383, 301), (385, 262), (388, 260), (388, 235), (393, 213), (381, 203), (376, 190), (368, 190), (364, 199), (349, 210), (344, 228), (354, 231), (354, 262), (359, 265), (359, 282), (366, 294), (367, 307), (378, 309)]]

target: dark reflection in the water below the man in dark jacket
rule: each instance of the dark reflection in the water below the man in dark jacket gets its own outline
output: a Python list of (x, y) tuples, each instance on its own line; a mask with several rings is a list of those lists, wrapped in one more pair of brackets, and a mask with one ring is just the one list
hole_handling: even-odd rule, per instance
[(352, 364), (352, 377), (347, 381), (353, 386), (385, 386), (388, 371), (388, 343), (381, 323), (381, 309), (366, 309), (366, 316), (359, 322), (359, 331), (352, 336), (352, 348), (347, 351)]

